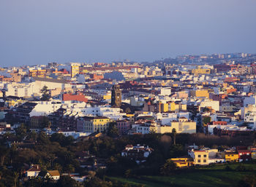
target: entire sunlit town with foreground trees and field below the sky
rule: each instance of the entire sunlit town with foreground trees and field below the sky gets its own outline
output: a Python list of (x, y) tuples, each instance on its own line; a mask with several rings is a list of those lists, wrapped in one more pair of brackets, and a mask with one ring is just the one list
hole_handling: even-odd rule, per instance
[(256, 54), (0, 69), (0, 186), (256, 185)]

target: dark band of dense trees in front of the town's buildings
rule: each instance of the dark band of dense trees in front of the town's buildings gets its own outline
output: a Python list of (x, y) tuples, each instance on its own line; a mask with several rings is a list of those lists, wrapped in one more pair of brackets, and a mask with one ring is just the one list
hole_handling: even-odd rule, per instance
[[(7, 146), (10, 139), (19, 141), (34, 141), (31, 148), (18, 148)], [(160, 135), (132, 135), (117, 137), (103, 135), (99, 138), (88, 138), (75, 141), (72, 137), (62, 134), (53, 134), (50, 137), (44, 132), (39, 134), (30, 132), (25, 126), (16, 130), (16, 135), (5, 134), (0, 139), (0, 187), (1, 186), (122, 186), (123, 184), (106, 179), (106, 176), (121, 175), (127, 178), (135, 175), (160, 175), (163, 168), (172, 167), (167, 159), (187, 155), (187, 146), (207, 146), (224, 149), (227, 146), (249, 146), (254, 143), (255, 135), (231, 137), (218, 137), (204, 134), (177, 134)], [(154, 149), (144, 164), (136, 164), (126, 157), (121, 156), (121, 151), (127, 144), (140, 144)], [(89, 151), (96, 158), (105, 160), (106, 170), (97, 170), (91, 180), (77, 183), (68, 176), (62, 176), (56, 183), (50, 180), (30, 179), (20, 180), (24, 176), (25, 166), (39, 164), (42, 170), (59, 170), (61, 173), (78, 172), (80, 175), (90, 175), (90, 172), (80, 167), (80, 162), (75, 153)]]

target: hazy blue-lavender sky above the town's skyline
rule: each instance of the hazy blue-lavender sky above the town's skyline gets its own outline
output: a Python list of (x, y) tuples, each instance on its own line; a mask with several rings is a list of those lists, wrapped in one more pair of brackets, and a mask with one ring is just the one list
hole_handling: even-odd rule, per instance
[(0, 0), (0, 66), (256, 53), (255, 0)]

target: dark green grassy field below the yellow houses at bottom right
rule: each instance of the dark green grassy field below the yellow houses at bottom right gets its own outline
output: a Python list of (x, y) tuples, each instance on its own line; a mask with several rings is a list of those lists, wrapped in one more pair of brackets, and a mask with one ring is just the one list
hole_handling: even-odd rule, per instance
[[(234, 166), (237, 166), (235, 164)], [(231, 187), (236, 186), (244, 175), (255, 175), (255, 171), (195, 170), (172, 176), (140, 176), (136, 178), (110, 177), (122, 183), (143, 184), (146, 187), (184, 186), (184, 187)]]

